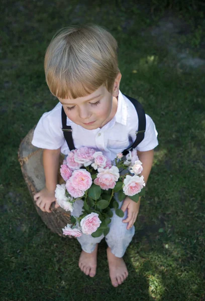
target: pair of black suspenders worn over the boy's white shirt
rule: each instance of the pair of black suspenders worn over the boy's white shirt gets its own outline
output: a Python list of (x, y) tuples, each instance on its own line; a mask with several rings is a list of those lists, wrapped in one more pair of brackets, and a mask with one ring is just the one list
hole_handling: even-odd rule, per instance
[[(136, 140), (134, 141), (134, 143), (128, 147), (127, 149), (125, 149), (123, 151), (123, 155), (127, 155), (129, 153), (129, 150), (132, 150), (133, 148), (137, 147), (137, 145), (142, 142), (142, 140), (144, 139), (145, 136), (145, 130), (146, 130), (146, 117), (145, 117), (145, 111), (141, 105), (141, 103), (137, 100), (134, 99), (130, 96), (125, 95), (135, 106), (135, 109), (137, 111), (138, 114), (138, 130), (136, 131)], [(68, 144), (68, 147), (70, 150), (75, 149), (74, 143), (73, 143), (73, 138), (72, 138), (72, 128), (70, 125), (66, 124), (66, 120), (67, 120), (67, 116), (65, 114), (65, 111), (62, 107), (62, 111), (61, 111), (61, 117), (62, 117), (62, 131), (65, 137), (65, 140)]]

